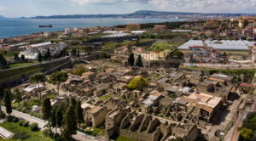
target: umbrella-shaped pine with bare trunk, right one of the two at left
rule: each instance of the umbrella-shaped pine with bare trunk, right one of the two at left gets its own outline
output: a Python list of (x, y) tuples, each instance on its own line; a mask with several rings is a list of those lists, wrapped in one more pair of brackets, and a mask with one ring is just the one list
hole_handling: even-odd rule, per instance
[(58, 85), (58, 94), (60, 93), (60, 85), (61, 82), (66, 82), (67, 81), (67, 73), (65, 72), (61, 72), (61, 71), (57, 71), (55, 73), (53, 73), (50, 76), (49, 82), (52, 84), (57, 84)]

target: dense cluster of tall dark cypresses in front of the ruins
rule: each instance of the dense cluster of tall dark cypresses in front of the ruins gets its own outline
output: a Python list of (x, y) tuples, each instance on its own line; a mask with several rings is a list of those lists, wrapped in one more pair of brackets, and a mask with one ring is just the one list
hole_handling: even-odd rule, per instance
[(49, 130), (51, 127), (57, 127), (61, 130), (63, 140), (72, 140), (78, 126), (84, 122), (83, 110), (80, 101), (67, 99), (67, 104), (51, 106), (50, 99), (44, 99), (43, 104), (44, 120), (49, 121)]

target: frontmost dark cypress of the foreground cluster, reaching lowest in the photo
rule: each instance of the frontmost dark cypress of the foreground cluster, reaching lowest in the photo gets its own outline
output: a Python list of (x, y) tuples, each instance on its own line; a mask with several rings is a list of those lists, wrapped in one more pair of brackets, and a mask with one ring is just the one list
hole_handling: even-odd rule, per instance
[(67, 133), (72, 138), (73, 133), (76, 133), (77, 130), (77, 121), (75, 120), (75, 112), (73, 108), (73, 104), (69, 104), (67, 111), (64, 115), (64, 130), (67, 130)]

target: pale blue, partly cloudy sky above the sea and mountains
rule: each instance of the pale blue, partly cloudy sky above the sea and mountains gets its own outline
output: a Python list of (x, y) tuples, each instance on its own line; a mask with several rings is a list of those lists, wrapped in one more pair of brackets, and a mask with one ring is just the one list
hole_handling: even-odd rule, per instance
[(130, 14), (137, 10), (256, 14), (256, 0), (0, 0), (0, 15), (9, 18)]

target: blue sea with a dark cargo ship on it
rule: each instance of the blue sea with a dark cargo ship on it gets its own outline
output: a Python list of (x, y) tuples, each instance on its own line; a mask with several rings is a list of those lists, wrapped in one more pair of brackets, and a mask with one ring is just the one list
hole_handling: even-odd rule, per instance
[[(62, 31), (65, 28), (125, 25), (128, 23), (159, 23), (183, 21), (183, 19), (0, 19), (0, 38), (17, 37), (36, 32)], [(52, 28), (39, 28), (38, 25), (53, 25)]]

